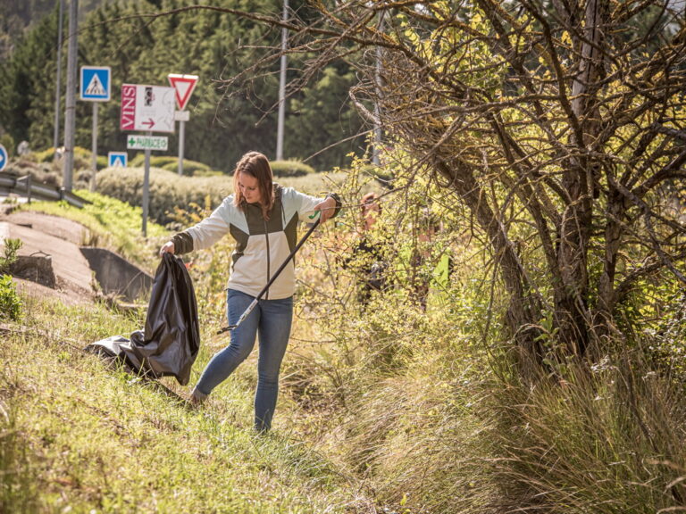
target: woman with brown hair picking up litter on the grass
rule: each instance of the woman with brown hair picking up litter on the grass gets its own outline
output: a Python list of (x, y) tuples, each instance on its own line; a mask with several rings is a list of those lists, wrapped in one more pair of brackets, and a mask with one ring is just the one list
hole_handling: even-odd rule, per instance
[[(227, 294), (227, 317), (235, 324), (248, 305), (266, 286), (272, 272), (279, 268), (297, 244), (297, 221), (311, 220), (319, 211), (324, 222), (338, 214), (339, 198), (298, 193), (291, 187), (273, 183), (272, 168), (262, 153), (246, 153), (233, 174), (234, 194), (228, 196), (212, 215), (195, 227), (173, 236), (160, 254), (188, 253), (208, 248), (230, 234), (236, 240), (231, 255)], [(214, 354), (191, 393), (190, 401), (203, 402), (252, 352), (259, 335), (255, 393), (255, 430), (272, 427), (279, 389), (279, 371), (289, 343), (293, 319), (295, 265), (290, 261), (255, 307), (231, 331), (230, 344)]]

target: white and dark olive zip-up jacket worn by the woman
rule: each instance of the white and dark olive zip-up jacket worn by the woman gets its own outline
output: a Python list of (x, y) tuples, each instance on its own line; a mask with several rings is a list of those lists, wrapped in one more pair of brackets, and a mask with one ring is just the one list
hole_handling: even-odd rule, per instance
[[(339, 197), (329, 196), (336, 200), (336, 216), (340, 209)], [(274, 206), (269, 220), (265, 220), (259, 205), (245, 203), (245, 211), (241, 211), (234, 205), (233, 195), (227, 196), (208, 218), (172, 237), (174, 252), (202, 250), (230, 234), (236, 240), (236, 248), (231, 254), (229, 289), (257, 296), (296, 247), (297, 222), (311, 221), (309, 216), (314, 214), (314, 206), (323, 201), (324, 198), (274, 184)], [(288, 298), (295, 288), (295, 264), (290, 261), (264, 299)]]

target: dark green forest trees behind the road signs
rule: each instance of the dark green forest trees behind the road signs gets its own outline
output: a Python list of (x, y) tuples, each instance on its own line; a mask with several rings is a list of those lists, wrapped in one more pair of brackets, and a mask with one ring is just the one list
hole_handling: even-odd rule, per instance
[[(112, 100), (98, 112), (100, 153), (121, 150), (125, 139), (119, 129), (121, 84), (167, 86), (169, 73), (200, 78), (187, 108), (191, 115), (186, 123), (185, 155), (190, 161), (229, 172), (249, 150), (268, 155), (275, 152), (278, 63), (261, 79), (232, 91), (237, 97), (226, 95), (216, 81), (222, 70), (245, 69), (258, 60), (264, 54), (261, 46), (280, 42), (280, 31), (255, 21), (254, 16), (280, 18), (281, 4), (253, 2), (245, 16), (231, 12), (245, 7), (237, 0), (194, 4), (190, 0), (103, 2), (79, 21), (79, 61), (112, 69)], [(292, 8), (305, 12), (298, 4)], [(6, 65), (0, 67), (3, 127), (16, 141), (26, 139), (34, 148), (53, 145), (54, 128), (46, 120), (54, 119), (56, 25), (54, 8), (28, 30)], [(64, 45), (63, 62), (66, 50)], [(299, 57), (289, 58), (289, 81), (300, 79), (301, 68)], [(313, 87), (289, 95), (284, 137), (287, 158), (312, 156), (314, 167), (329, 170), (344, 166), (347, 153), (358, 151), (361, 138), (356, 134), (361, 122), (347, 102), (347, 89), (354, 80), (350, 66), (340, 62), (331, 65)], [(88, 102), (77, 102), (76, 145), (88, 147), (90, 143), (90, 107)], [(178, 134), (169, 138), (170, 148), (176, 148)], [(336, 145), (341, 140), (345, 142)]]

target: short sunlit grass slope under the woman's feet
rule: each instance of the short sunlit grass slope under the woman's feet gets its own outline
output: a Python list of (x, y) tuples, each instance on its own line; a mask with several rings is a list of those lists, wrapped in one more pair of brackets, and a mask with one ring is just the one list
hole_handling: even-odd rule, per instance
[(245, 381), (189, 410), (82, 351), (135, 320), (26, 301), (25, 328), (9, 326), (0, 346), (0, 511), (342, 512), (359, 502), (358, 487), (288, 430), (252, 432)]

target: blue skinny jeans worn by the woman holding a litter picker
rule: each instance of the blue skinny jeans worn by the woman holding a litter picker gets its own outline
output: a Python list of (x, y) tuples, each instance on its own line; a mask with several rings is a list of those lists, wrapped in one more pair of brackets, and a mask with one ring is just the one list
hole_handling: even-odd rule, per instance
[[(255, 296), (229, 289), (227, 316), (234, 324)], [(257, 391), (255, 392), (255, 429), (269, 430), (279, 394), (279, 370), (286, 346), (289, 344), (293, 321), (293, 297), (283, 300), (260, 300), (255, 309), (239, 327), (231, 331), (230, 344), (216, 352), (207, 363), (194, 394), (204, 398), (219, 386), (245, 361), (255, 347), (255, 336), (260, 336), (260, 354), (257, 361)]]

